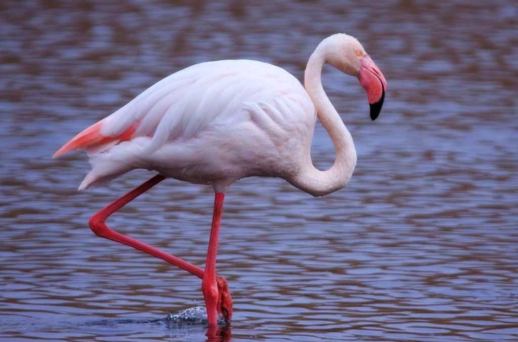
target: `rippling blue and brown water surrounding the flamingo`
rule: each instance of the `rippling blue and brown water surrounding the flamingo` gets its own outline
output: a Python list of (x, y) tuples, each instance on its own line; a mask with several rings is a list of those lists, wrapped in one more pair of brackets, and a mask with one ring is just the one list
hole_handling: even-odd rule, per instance
[[(512, 1), (2, 2), (0, 339), (518, 340), (517, 14)], [(203, 305), (200, 281), (86, 224), (152, 173), (78, 193), (84, 154), (51, 155), (193, 63), (260, 59), (301, 79), (335, 32), (389, 82), (371, 122), (357, 80), (325, 70), (358, 151), (351, 183), (315, 199), (237, 182), (218, 258), (232, 325), (168, 324)], [(334, 159), (320, 125), (312, 154)], [(167, 180), (109, 223), (203, 266), (212, 196)]]

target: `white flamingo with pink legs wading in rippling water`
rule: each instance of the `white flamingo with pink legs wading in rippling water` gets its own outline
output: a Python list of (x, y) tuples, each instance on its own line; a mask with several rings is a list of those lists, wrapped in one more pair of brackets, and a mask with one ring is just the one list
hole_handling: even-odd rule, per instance
[[(218, 314), (232, 318), (232, 297), (216, 274), (223, 200), (228, 187), (250, 176), (280, 177), (313, 196), (344, 187), (356, 166), (356, 151), (322, 86), (325, 63), (359, 79), (375, 120), (386, 80), (358, 40), (334, 34), (309, 58), (304, 86), (268, 63), (222, 60), (192, 65), (151, 86), (118, 111), (83, 130), (54, 158), (84, 149), (91, 171), (79, 190), (107, 183), (133, 169), (158, 172), (150, 180), (94, 214), (89, 225), (100, 237), (164, 259), (202, 279), (209, 326)], [(316, 117), (336, 149), (331, 168), (321, 171), (310, 156)], [(109, 228), (105, 221), (166, 177), (211, 184), (214, 211), (205, 269)]]

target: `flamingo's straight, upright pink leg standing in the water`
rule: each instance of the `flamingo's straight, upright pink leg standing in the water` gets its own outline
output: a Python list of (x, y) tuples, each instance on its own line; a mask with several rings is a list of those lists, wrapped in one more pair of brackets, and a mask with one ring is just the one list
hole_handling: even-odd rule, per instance
[(223, 193), (216, 193), (214, 196), (214, 212), (212, 214), (212, 226), (210, 228), (209, 249), (207, 251), (207, 262), (205, 263), (205, 275), (202, 280), (202, 291), (205, 297), (209, 325), (218, 323), (217, 306), (220, 294), (216, 282), (216, 257), (218, 255), (218, 238), (224, 198), (225, 195)]

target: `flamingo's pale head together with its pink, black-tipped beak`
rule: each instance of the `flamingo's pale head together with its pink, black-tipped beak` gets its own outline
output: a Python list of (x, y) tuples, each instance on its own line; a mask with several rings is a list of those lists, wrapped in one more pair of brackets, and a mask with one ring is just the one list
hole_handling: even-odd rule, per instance
[(380, 114), (387, 81), (378, 66), (365, 52), (362, 44), (350, 35), (338, 33), (322, 41), (325, 61), (342, 72), (355, 76), (367, 92), (370, 118), (376, 120)]

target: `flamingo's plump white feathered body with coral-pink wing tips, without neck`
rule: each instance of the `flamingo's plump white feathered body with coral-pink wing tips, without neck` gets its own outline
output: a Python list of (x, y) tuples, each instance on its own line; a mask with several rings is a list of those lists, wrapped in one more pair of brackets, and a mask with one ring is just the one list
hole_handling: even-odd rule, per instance
[(91, 154), (80, 189), (135, 168), (221, 186), (254, 175), (289, 179), (309, 153), (315, 120), (308, 93), (283, 69), (206, 62), (162, 79), (56, 155)]

